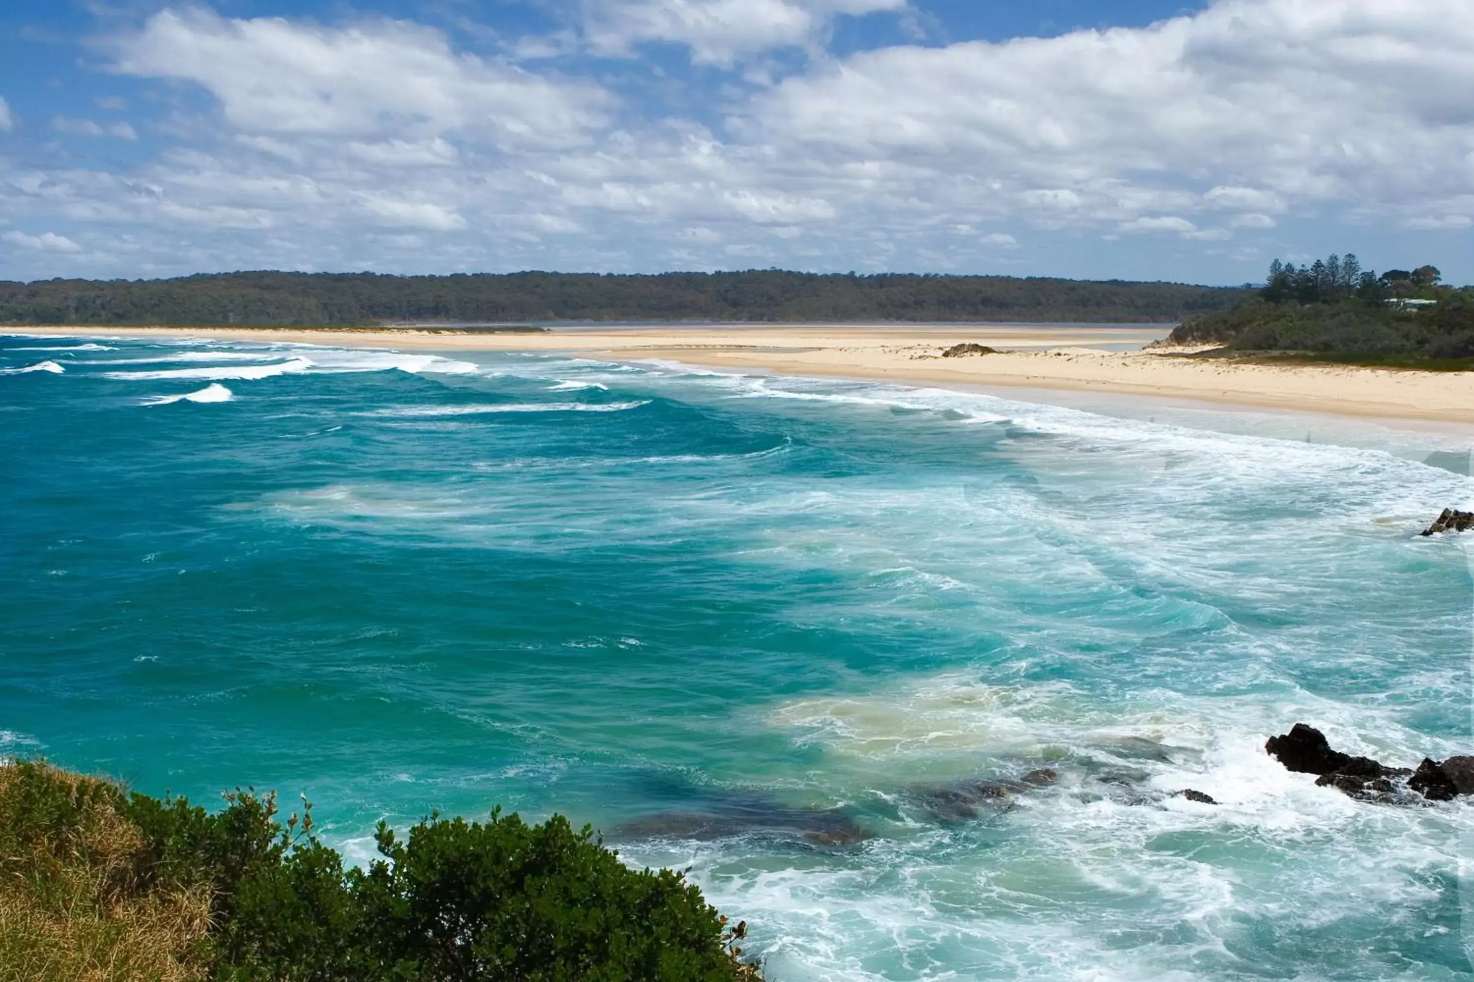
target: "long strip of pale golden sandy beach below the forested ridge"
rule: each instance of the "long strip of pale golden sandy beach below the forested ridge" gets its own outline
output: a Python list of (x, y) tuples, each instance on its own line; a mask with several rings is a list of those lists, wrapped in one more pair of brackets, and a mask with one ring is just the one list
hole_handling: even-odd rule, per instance
[[(1467, 372), (1265, 365), (1141, 350), (1166, 325), (576, 327), (547, 333), (296, 328), (16, 327), (27, 334), (178, 336), (422, 350), (566, 352), (713, 368), (940, 387), (1110, 392), (1361, 417), (1474, 423)], [(992, 355), (942, 358), (976, 342)], [(1122, 350), (1126, 349), (1126, 350)]]

